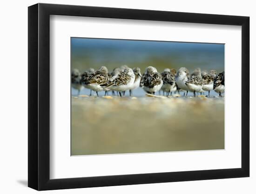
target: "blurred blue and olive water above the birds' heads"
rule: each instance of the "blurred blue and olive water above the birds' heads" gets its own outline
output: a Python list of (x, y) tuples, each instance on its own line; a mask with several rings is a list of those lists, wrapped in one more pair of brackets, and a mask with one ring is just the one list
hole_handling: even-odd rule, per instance
[(104, 65), (111, 72), (127, 65), (140, 67), (141, 73), (148, 66), (156, 67), (158, 72), (180, 67), (190, 72), (197, 67), (222, 72), (224, 48), (224, 44), (211, 43), (71, 38), (71, 68), (83, 72)]

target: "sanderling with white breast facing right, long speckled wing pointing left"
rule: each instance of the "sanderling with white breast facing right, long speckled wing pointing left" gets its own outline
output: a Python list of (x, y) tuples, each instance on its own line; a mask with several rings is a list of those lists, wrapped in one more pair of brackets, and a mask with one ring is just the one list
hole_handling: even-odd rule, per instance
[(129, 90), (133, 87), (135, 74), (131, 68), (125, 68), (115, 79), (101, 84), (101, 87), (109, 88), (119, 92), (120, 97), (122, 91)]

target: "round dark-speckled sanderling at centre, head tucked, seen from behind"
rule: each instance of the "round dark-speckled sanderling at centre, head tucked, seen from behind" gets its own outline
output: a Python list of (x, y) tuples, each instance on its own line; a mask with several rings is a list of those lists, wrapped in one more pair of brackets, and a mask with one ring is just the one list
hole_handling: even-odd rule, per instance
[(143, 89), (149, 93), (154, 94), (162, 87), (162, 76), (159, 74), (155, 67), (147, 67), (143, 80), (141, 79), (141, 85)]

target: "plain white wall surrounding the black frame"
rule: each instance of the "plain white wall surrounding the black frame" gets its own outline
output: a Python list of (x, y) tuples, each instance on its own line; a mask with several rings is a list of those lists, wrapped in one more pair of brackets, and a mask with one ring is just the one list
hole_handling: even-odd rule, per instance
[[(251, 97), (256, 81), (252, 79), (255, 57), (256, 12), (252, 0), (41, 0), (41, 3), (84, 6), (122, 7), (177, 12), (215, 13), (250, 16)], [(27, 7), (36, 0), (2, 1), (0, 10), (0, 193), (36, 193), (27, 187)], [(254, 33), (254, 35), (253, 35)], [(254, 108), (254, 110), (252, 110)], [(256, 187), (256, 103), (251, 100), (251, 170), (250, 178), (188, 181), (118, 187), (98, 187), (47, 191), (44, 193), (255, 193)]]

